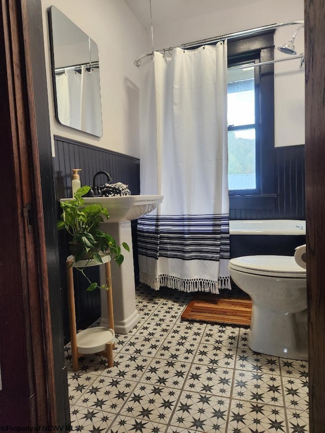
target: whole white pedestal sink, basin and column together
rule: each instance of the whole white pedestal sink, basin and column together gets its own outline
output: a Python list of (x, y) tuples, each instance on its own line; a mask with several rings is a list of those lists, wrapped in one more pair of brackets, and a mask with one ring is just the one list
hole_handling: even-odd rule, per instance
[[(112, 267), (112, 288), (114, 326), (116, 334), (127, 334), (138, 321), (136, 289), (133, 263), (131, 221), (154, 210), (163, 201), (162, 195), (131, 195), (125, 197), (85, 197), (85, 205), (100, 203), (106, 207), (110, 218), (101, 224), (101, 230), (109, 233), (118, 244), (126, 242), (130, 252), (125, 251), (124, 262), (119, 267), (114, 261)], [(70, 199), (71, 200), (71, 199)], [(60, 201), (69, 201), (61, 199)], [(105, 281), (105, 268), (100, 266), (101, 284)], [(101, 292), (101, 326), (108, 327), (106, 294)]]

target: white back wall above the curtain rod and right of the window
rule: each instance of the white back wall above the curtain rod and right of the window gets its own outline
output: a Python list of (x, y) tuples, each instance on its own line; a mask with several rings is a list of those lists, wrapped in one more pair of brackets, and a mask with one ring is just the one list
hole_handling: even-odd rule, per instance
[[(137, 1), (137, 0), (135, 0)], [(152, 13), (154, 17), (154, 2)], [(303, 20), (303, 0), (264, 0), (251, 5), (220, 12), (202, 10), (202, 15), (191, 19), (172, 17), (162, 25), (154, 25), (155, 49), (179, 46), (263, 25)], [(295, 26), (282, 27), (276, 30), (275, 46), (287, 42), (296, 29)], [(303, 29), (298, 33), (295, 46), (297, 53), (304, 51)], [(146, 53), (152, 51), (151, 29), (146, 32)], [(138, 53), (138, 57), (143, 54)], [(286, 57), (286, 54), (275, 50), (275, 58)], [(300, 61), (292, 60), (275, 64), (275, 146), (301, 145), (305, 143), (305, 74), (299, 68)]]

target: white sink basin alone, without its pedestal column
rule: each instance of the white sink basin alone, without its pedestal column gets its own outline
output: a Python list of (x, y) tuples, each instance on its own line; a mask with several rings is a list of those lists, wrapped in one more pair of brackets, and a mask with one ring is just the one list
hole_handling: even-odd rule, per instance
[[(163, 201), (163, 198), (163, 195), (131, 195), (123, 197), (84, 197), (84, 200), (86, 205), (99, 203), (106, 207), (110, 215), (107, 223), (121, 223), (143, 217), (143, 215), (154, 210)], [(72, 199), (60, 199), (60, 201), (69, 200)]]

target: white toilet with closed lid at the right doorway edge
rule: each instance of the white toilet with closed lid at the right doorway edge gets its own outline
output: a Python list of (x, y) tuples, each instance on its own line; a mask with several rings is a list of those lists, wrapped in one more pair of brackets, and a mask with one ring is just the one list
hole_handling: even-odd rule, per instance
[(289, 359), (308, 359), (306, 269), (289, 256), (230, 260), (230, 276), (252, 299), (248, 346)]

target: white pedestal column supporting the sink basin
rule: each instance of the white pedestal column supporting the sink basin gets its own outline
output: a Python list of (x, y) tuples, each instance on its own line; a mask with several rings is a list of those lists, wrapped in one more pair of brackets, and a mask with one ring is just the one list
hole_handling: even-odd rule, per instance
[[(120, 267), (111, 261), (115, 333), (127, 334), (140, 320), (136, 308), (131, 222), (101, 224), (101, 230), (113, 236), (118, 245), (126, 242), (130, 247), (130, 252), (121, 247), (124, 261)], [(104, 266), (100, 266), (100, 276), (101, 284), (105, 284)], [(101, 316), (101, 326), (108, 327), (105, 290), (101, 290)]]

